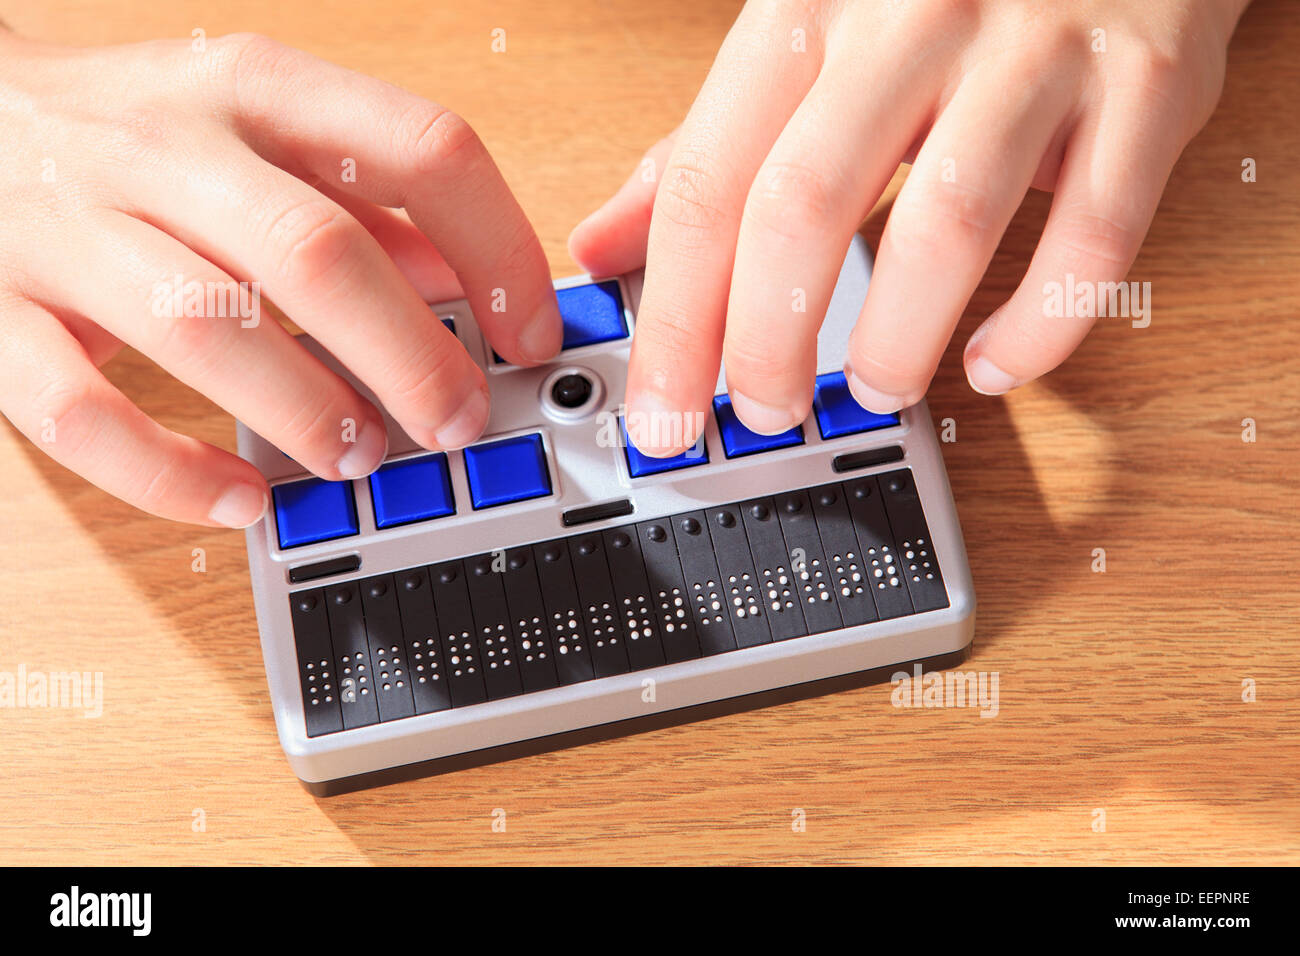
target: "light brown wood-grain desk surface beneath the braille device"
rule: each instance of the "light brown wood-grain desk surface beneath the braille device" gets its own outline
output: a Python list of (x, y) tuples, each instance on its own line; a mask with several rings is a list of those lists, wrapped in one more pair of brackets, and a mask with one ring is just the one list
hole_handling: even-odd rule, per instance
[[(685, 112), (738, 4), (3, 7), (75, 43), (256, 30), (439, 99), (493, 148), (560, 276), (569, 228)], [(945, 454), (980, 601), (967, 667), (998, 672), (996, 718), (894, 709), (884, 685), (317, 801), (276, 739), (243, 536), (138, 514), (4, 424), (0, 670), (105, 684), (99, 719), (0, 710), (0, 862), (1300, 862), (1286, 8), (1247, 12), (1134, 267), (1150, 328), (1102, 321), (1005, 401), (967, 388), (961, 345), (1023, 273), (1034, 195), (931, 390), (957, 423)], [(147, 360), (108, 371), (164, 424), (234, 447), (230, 419)]]

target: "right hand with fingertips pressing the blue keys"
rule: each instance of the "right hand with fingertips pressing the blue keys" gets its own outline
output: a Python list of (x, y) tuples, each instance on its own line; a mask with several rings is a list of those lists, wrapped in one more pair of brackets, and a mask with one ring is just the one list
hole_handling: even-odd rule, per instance
[(593, 272), (646, 267), (633, 441), (693, 444), (719, 362), (753, 431), (807, 416), (840, 261), (905, 160), (849, 342), (854, 397), (893, 412), (924, 395), (1031, 187), (1054, 191), (1050, 215), (1023, 282), (967, 342), (966, 375), (1001, 394), (1058, 365), (1092, 319), (1045, 319), (1044, 284), (1124, 278), (1245, 5), (751, 0), (681, 126), (569, 239)]

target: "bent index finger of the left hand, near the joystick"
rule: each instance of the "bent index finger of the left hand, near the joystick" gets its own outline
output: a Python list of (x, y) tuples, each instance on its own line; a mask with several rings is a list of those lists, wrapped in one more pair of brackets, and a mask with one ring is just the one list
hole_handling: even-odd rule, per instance
[(264, 36), (224, 38), (220, 99), (243, 139), (303, 178), (404, 207), (451, 265), (497, 351), (532, 365), (560, 349), (550, 267), (464, 120), (391, 83)]

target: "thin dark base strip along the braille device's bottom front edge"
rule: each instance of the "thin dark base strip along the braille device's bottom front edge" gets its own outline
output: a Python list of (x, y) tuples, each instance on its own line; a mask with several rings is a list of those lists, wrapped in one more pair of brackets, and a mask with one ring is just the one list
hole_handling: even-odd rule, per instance
[(299, 782), (309, 793), (320, 797), (352, 793), (355, 791), (369, 790), (372, 787), (386, 787), (390, 783), (404, 783), (407, 780), (420, 779), (421, 777), (450, 774), (456, 770), (468, 770), (469, 767), (478, 767), (486, 763), (502, 763), (508, 760), (517, 760), (519, 757), (551, 753), (569, 747), (594, 744), (601, 740), (612, 740), (615, 737), (630, 736), (633, 734), (645, 734), (646, 731), (662, 730), (664, 727), (679, 727), (684, 723), (707, 721), (714, 717), (727, 717), (728, 714), (740, 714), (746, 710), (759, 710), (777, 704), (789, 704), (797, 700), (820, 697), (827, 693), (837, 693), (838, 691), (849, 691), (858, 687), (868, 687), (871, 684), (884, 684), (892, 680), (893, 675), (898, 671), (910, 674), (913, 667), (918, 663), (926, 674), (930, 674), (931, 671), (948, 670), (965, 662), (966, 658), (970, 657), (970, 650), (971, 645), (967, 644), (961, 650), (954, 650), (949, 654), (939, 654), (936, 657), (923, 657), (915, 661), (890, 663), (884, 667), (872, 667), (871, 670), (854, 671), (853, 674), (841, 674), (833, 678), (809, 680), (802, 684), (790, 684), (789, 687), (774, 687), (770, 691), (758, 691), (755, 693), (741, 695), (740, 697), (727, 697), (724, 700), (706, 701), (705, 704), (693, 704), (686, 708), (677, 708), (676, 710), (662, 710), (656, 714), (646, 714), (645, 717), (629, 717), (625, 721), (599, 723), (594, 727), (578, 727), (577, 730), (564, 731), (563, 734), (551, 734), (543, 737), (517, 740), (512, 744), (488, 747), (482, 750), (454, 753), (450, 757), (436, 757), (434, 760), (422, 760), (417, 763), (403, 763), (398, 767), (372, 770), (368, 774), (341, 777), (337, 780), (320, 780), (318, 783), (308, 783), (307, 780)]

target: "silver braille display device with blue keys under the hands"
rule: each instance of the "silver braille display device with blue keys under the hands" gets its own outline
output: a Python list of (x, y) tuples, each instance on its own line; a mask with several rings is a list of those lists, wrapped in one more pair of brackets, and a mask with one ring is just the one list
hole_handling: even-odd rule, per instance
[[(276, 726), (320, 795), (888, 680), (965, 658), (975, 597), (924, 403), (876, 415), (841, 371), (871, 260), (854, 239), (812, 411), (736, 416), (724, 373), (676, 458), (627, 440), (641, 274), (556, 282), (564, 347), (511, 365), (465, 302), (488, 431), (324, 481), (239, 425), (272, 486), (247, 531)], [(316, 342), (304, 345), (367, 398)], [(376, 405), (378, 402), (376, 401)], [(381, 406), (382, 407), (382, 406)]]

